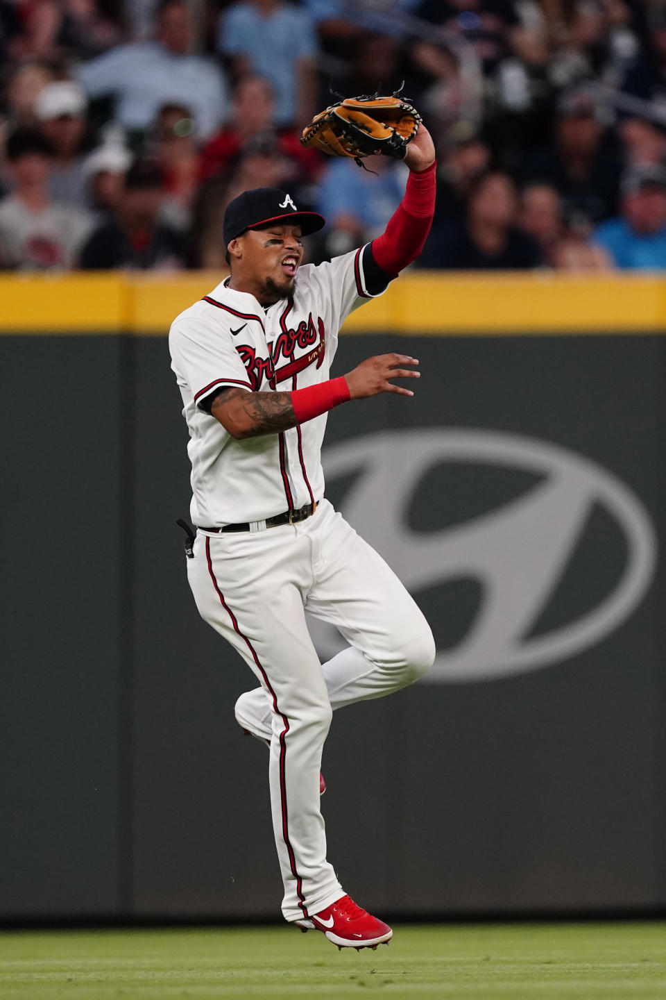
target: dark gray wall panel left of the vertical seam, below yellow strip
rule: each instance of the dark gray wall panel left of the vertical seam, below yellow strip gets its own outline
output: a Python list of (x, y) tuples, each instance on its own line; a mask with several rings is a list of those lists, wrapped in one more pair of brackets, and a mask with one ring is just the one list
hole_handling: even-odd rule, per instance
[(0, 337), (0, 917), (119, 912), (120, 338)]

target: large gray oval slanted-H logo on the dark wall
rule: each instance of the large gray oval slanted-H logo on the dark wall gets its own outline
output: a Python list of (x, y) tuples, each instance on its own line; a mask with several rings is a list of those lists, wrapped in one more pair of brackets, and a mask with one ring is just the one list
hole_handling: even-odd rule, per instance
[[(420, 496), (434, 505), (433, 530), (410, 526), (409, 511), (428, 473), (461, 463), (472, 466), (472, 473), (476, 467), (494, 467), (495, 476), (498, 469), (531, 474), (530, 485), (506, 502), (441, 528), (437, 494), (425, 490)], [(652, 579), (657, 539), (640, 500), (606, 469), (547, 441), (485, 430), (387, 431), (327, 448), (324, 468), (332, 486), (337, 477), (352, 477), (338, 504), (341, 513), (417, 598), (447, 581), (478, 584), (471, 624), (452, 648), (437, 652), (425, 682), (487, 680), (580, 653), (631, 614)], [(473, 476), (468, 492), (471, 504)], [(556, 588), (566, 586), (593, 510), (602, 510), (622, 536), (622, 565), (591, 606), (578, 597), (582, 606), (574, 603), (564, 622), (534, 634)], [(592, 559), (586, 572), (598, 577), (605, 571)], [(592, 590), (596, 594), (598, 588)], [(431, 607), (428, 616), (433, 617)], [(431, 624), (436, 637), (436, 623)], [(339, 648), (329, 626), (316, 623), (313, 636), (324, 657)]]

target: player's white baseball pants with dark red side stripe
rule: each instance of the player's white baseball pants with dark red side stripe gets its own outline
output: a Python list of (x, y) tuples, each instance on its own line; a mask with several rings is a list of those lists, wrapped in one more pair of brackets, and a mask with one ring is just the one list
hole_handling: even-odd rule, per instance
[[(188, 578), (201, 616), (254, 671), (261, 687), (236, 717), (271, 740), (273, 823), (289, 921), (343, 891), (327, 861), (320, 810), (322, 750), (332, 710), (380, 698), (421, 677), (434, 659), (420, 610), (377, 553), (324, 500), (294, 525), (199, 532)], [(322, 665), (306, 609), (349, 643)]]

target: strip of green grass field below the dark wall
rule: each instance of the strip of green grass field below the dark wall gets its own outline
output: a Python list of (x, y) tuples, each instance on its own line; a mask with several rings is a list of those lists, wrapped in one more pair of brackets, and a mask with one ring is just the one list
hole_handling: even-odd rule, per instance
[(2, 1000), (666, 1000), (666, 924), (396, 926), (338, 952), (289, 927), (0, 934)]

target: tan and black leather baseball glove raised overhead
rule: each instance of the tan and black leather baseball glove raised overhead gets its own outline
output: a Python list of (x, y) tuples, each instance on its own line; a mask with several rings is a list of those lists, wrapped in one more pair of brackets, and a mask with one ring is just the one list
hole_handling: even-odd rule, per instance
[(375, 153), (403, 160), (421, 117), (398, 93), (337, 101), (315, 115), (304, 129), (301, 142), (330, 156), (350, 156), (359, 167), (363, 166), (363, 157)]

